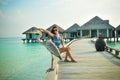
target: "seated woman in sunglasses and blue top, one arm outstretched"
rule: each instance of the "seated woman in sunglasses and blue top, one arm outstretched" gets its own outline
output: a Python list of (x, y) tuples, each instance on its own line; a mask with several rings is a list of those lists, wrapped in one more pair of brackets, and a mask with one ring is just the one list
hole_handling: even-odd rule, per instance
[[(46, 32), (52, 38), (52, 41), (58, 47), (58, 49), (60, 50), (60, 53), (66, 52), (66, 57), (64, 60), (65, 62), (69, 62), (68, 57), (71, 59), (71, 62), (76, 62), (71, 56), (70, 47), (64, 47), (64, 41), (60, 37), (59, 30), (57, 27), (53, 27), (51, 32), (42, 28), (38, 28), (38, 30), (42, 30)], [(62, 48), (60, 48), (60, 44), (62, 44)]]

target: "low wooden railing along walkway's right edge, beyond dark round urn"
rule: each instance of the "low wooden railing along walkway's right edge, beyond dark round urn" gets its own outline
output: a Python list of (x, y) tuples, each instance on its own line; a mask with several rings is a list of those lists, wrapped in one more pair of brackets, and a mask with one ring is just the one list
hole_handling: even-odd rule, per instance
[(114, 55), (115, 57), (120, 58), (120, 56), (119, 56), (120, 50), (119, 49), (115, 49), (110, 46), (105, 46), (105, 50), (107, 52), (111, 53), (112, 55)]

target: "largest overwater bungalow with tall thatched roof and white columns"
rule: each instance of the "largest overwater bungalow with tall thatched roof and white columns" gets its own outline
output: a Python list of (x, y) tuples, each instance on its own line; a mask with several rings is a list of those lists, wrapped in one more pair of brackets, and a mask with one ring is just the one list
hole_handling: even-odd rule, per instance
[(109, 24), (109, 20), (102, 20), (98, 16), (95, 16), (87, 23), (83, 24), (80, 29), (80, 37), (113, 37), (114, 27)]

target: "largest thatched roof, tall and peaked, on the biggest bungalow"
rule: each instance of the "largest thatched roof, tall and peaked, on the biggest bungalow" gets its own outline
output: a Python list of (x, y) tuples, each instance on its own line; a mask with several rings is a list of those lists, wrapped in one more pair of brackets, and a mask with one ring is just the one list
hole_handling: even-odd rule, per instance
[(113, 29), (113, 26), (109, 24), (109, 20), (102, 20), (98, 16), (95, 16), (87, 23), (81, 26), (82, 30), (92, 30), (92, 29)]

